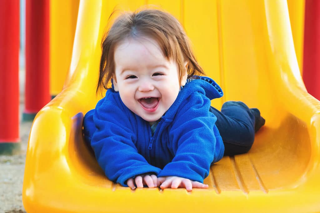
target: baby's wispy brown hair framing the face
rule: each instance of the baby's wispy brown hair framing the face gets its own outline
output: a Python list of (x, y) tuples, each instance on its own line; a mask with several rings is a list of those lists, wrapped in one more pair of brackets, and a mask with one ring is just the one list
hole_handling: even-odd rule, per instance
[[(113, 14), (114, 12), (110, 17)], [(140, 36), (154, 39), (158, 42), (164, 57), (167, 60), (173, 59), (177, 62), (180, 80), (184, 61), (188, 62), (188, 78), (196, 74), (204, 74), (191, 50), (184, 29), (171, 14), (153, 9), (126, 12), (115, 20), (101, 42), (102, 55), (97, 93), (98, 91), (102, 92), (102, 87), (108, 89), (108, 83), (114, 76), (116, 45), (126, 38), (138, 38)]]

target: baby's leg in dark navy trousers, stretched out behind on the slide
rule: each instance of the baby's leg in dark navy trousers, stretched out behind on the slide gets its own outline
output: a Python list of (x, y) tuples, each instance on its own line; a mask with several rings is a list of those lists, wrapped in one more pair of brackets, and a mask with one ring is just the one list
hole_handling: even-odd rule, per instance
[(228, 101), (222, 105), (221, 112), (213, 107), (210, 111), (217, 117), (216, 126), (225, 146), (224, 155), (248, 152), (254, 133), (265, 122), (258, 109), (249, 109), (243, 102)]

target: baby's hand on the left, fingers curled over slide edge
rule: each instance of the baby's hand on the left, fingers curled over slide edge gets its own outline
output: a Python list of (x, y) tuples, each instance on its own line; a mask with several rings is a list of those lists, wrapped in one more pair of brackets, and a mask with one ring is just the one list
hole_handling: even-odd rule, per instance
[(138, 188), (143, 188), (143, 185), (147, 185), (149, 188), (154, 188), (157, 187), (157, 176), (145, 173), (135, 177), (135, 179), (130, 178), (127, 180), (127, 185), (132, 190), (136, 189), (134, 183), (137, 185)]

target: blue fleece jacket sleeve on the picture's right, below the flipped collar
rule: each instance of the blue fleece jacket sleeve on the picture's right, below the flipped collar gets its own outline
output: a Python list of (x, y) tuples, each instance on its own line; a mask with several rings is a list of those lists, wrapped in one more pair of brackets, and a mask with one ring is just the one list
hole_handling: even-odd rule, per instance
[(203, 183), (212, 162), (222, 158), (224, 145), (210, 104), (202, 92), (181, 104), (169, 133), (174, 157), (158, 177), (178, 176)]

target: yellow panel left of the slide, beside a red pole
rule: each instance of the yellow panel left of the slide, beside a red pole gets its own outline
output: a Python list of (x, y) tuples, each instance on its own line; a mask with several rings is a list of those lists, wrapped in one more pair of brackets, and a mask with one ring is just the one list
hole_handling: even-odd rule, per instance
[(50, 95), (62, 91), (72, 56), (79, 0), (50, 1)]

